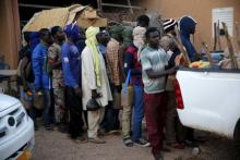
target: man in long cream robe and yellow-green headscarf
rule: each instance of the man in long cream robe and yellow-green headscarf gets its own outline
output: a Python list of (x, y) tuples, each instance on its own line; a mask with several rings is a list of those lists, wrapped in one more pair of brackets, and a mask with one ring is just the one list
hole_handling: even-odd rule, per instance
[(105, 107), (112, 100), (112, 96), (105, 60), (97, 47), (96, 35), (98, 33), (98, 27), (91, 26), (86, 30), (86, 47), (82, 52), (82, 86), (84, 110), (86, 110), (87, 101), (91, 99), (95, 99), (100, 104), (100, 109), (97, 111), (87, 111), (88, 141), (104, 144), (105, 140), (98, 137), (98, 130), (105, 114)]

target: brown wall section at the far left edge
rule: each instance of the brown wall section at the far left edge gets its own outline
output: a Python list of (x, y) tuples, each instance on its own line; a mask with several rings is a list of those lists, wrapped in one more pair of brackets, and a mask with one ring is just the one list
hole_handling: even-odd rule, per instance
[(11, 69), (17, 66), (17, 52), (21, 47), (21, 30), (17, 0), (0, 1), (0, 53)]

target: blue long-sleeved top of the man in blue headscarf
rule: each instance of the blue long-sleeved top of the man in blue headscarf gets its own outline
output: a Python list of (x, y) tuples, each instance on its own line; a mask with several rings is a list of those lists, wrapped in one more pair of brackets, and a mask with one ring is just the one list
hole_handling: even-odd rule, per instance
[(81, 85), (81, 59), (75, 45), (64, 42), (61, 47), (62, 69), (65, 86), (76, 88)]

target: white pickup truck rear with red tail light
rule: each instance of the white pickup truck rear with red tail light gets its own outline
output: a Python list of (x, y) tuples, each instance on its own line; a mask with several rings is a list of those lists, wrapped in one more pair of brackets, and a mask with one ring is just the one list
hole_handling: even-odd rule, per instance
[(175, 87), (183, 125), (240, 138), (240, 71), (183, 67)]

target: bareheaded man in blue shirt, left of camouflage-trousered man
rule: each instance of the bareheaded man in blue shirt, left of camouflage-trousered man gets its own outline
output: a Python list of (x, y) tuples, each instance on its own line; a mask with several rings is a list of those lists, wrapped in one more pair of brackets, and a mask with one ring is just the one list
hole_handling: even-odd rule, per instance
[(51, 108), (51, 79), (48, 74), (48, 47), (53, 42), (51, 33), (47, 28), (39, 30), (40, 42), (34, 48), (32, 56), (34, 71), (34, 86), (36, 93), (44, 94), (44, 123), (46, 130), (50, 130), (50, 108)]

